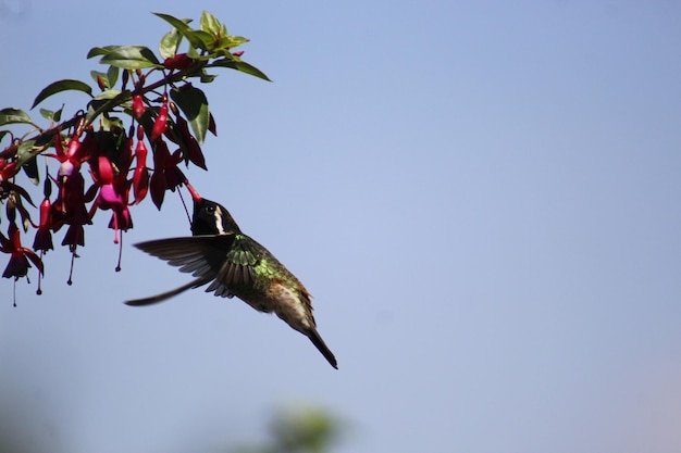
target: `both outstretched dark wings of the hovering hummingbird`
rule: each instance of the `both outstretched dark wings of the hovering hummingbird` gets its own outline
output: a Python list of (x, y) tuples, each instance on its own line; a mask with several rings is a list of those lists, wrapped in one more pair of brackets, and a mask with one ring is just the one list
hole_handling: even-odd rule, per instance
[(225, 250), (230, 249), (233, 241), (234, 235), (211, 235), (136, 243), (135, 247), (141, 251), (165, 260), (172, 266), (179, 266), (181, 272), (191, 273), (197, 278), (161, 294), (126, 301), (125, 303), (128, 305), (149, 305), (208, 284), (218, 275), (218, 270), (225, 260)]

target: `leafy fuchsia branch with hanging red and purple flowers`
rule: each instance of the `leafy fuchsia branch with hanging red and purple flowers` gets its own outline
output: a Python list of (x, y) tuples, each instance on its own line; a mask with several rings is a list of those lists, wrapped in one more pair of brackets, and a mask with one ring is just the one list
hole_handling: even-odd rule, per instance
[[(44, 255), (53, 250), (53, 235), (63, 229), (61, 244), (72, 255), (71, 285), (77, 250), (86, 244), (85, 226), (94, 223), (97, 211), (111, 212), (108, 225), (114, 230), (113, 242), (121, 248), (115, 266), (120, 270), (122, 234), (133, 228), (131, 207), (149, 194), (160, 210), (165, 192), (186, 183), (181, 164), (207, 169), (200, 143), (208, 131), (215, 135), (215, 123), (203, 91), (190, 79), (210, 83), (215, 76), (207, 70), (215, 67), (268, 79), (242, 61), (243, 52), (231, 50), (247, 39), (228, 35), (210, 13), (203, 12), (198, 29), (187, 21), (157, 15), (173, 27), (161, 40), (162, 59), (141, 46), (94, 48), (88, 58), (100, 56), (100, 63), (109, 65), (106, 73), (92, 72), (99, 95), (92, 95), (86, 83), (59, 80), (40, 91), (33, 104), (35, 108), (64, 90), (78, 90), (91, 97), (84, 111), (60, 122), (62, 110), (41, 109), (50, 121), (50, 127), (42, 129), (24, 111), (0, 110), (0, 142), (10, 138), (9, 144), (0, 148), (0, 203), (5, 205), (9, 221), (7, 229), (0, 227), (0, 252), (10, 256), (2, 277), (16, 281), (35, 266), (40, 293)], [(183, 40), (188, 42), (188, 51), (178, 53)], [(16, 124), (34, 129), (15, 138), (12, 130), (2, 128)], [(23, 169), (37, 183), (40, 155), (46, 169), (42, 202), (36, 206), (17, 177)], [(37, 210), (37, 223), (30, 207)], [(25, 236), (30, 230), (35, 235), (27, 248)]]

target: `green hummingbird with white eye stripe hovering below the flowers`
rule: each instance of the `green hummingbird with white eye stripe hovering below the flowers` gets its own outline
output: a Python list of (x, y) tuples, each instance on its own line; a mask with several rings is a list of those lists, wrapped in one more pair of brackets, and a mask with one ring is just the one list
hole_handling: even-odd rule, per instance
[(311, 295), (300, 280), (268, 249), (242, 232), (223, 205), (201, 198), (188, 183), (185, 185), (194, 200), (193, 236), (151, 240), (135, 247), (196, 278), (173, 290), (125, 303), (150, 305), (208, 285), (206, 292), (237, 297), (259, 312), (274, 312), (308, 337), (331, 366), (338, 369), (336, 357), (317, 331)]

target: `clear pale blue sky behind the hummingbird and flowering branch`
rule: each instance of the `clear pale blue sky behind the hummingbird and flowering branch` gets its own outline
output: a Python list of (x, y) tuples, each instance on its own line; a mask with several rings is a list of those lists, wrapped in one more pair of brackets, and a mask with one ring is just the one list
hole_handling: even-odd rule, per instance
[(307, 404), (343, 453), (681, 451), (679, 2), (3, 0), (0, 104), (202, 10), (274, 83), (206, 88), (188, 176), (312, 292), (339, 370), (236, 299), (122, 304), (189, 278), (131, 247), (189, 234), (174, 196), (121, 273), (100, 213), (72, 287), (64, 249), (44, 295), (0, 281), (1, 436), (209, 452)]

